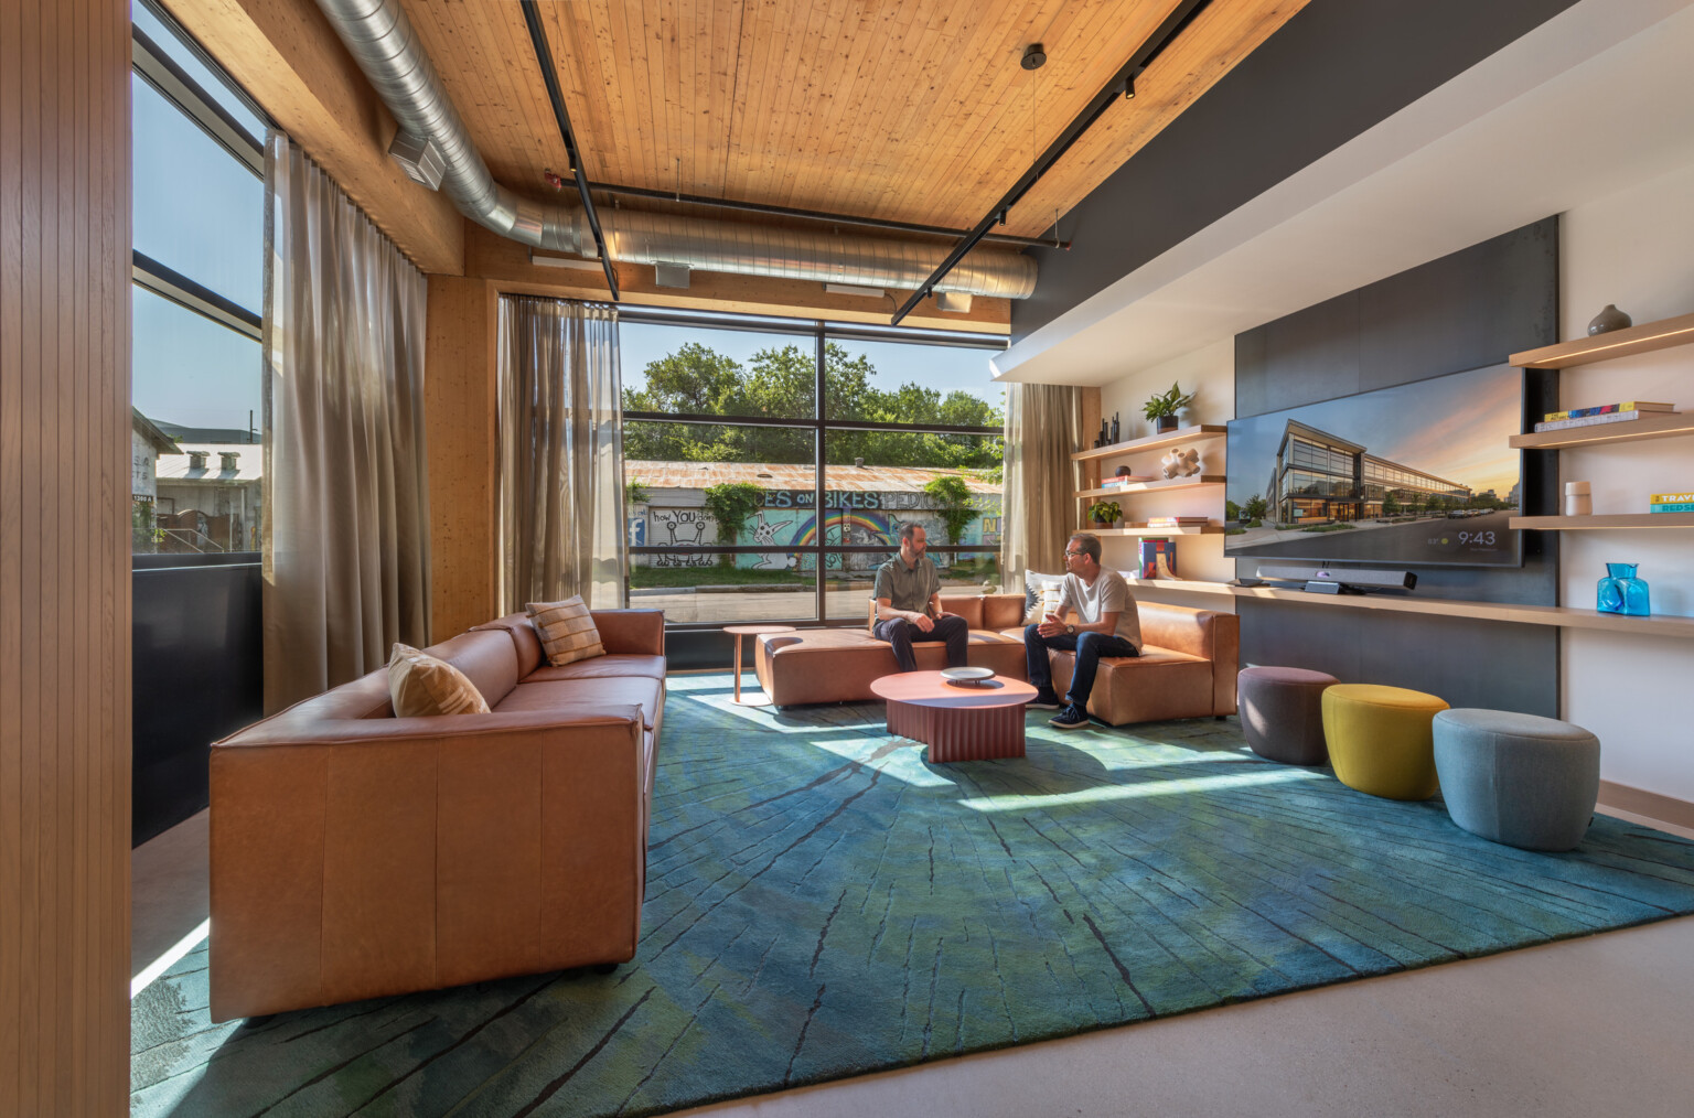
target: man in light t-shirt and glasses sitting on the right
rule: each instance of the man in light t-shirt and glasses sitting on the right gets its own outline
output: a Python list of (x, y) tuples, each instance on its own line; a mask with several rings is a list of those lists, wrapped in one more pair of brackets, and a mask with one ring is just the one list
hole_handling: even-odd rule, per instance
[[(1135, 612), (1130, 584), (1116, 571), (1099, 566), (1099, 537), (1077, 532), (1064, 547), (1064, 589), (1059, 608), (1023, 630), (1023, 650), (1028, 656), (1030, 683), (1035, 698), (1030, 706), (1059, 710), (1054, 695), (1052, 662), (1049, 649), (1076, 652), (1076, 671), (1071, 689), (1064, 696), (1064, 710), (1047, 720), (1060, 730), (1081, 730), (1088, 725), (1088, 695), (1094, 689), (1094, 672), (1103, 656), (1140, 656), (1142, 622)], [(1066, 615), (1074, 617), (1067, 622)]]

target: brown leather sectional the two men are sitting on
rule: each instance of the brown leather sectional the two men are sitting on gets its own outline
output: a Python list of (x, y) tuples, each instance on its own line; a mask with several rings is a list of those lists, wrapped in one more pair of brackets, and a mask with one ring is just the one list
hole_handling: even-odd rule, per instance
[[(1023, 595), (942, 598), (971, 625), (969, 662), (1027, 679)], [(1137, 603), (1142, 656), (1103, 659), (1088, 710), (1110, 725), (1235, 713), (1240, 620), (1233, 613)], [(947, 666), (940, 644), (913, 650), (920, 669)], [(1049, 652), (1054, 688), (1071, 684), (1076, 656)], [(864, 628), (811, 628), (757, 637), (754, 669), (778, 706), (876, 698), (871, 681), (898, 671), (888, 644)]]

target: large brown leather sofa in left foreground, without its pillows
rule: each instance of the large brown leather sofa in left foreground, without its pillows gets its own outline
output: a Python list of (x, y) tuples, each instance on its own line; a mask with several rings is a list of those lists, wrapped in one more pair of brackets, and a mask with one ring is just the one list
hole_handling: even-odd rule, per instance
[(522, 613), (432, 645), (488, 715), (395, 718), (385, 669), (212, 747), (212, 1020), (635, 955), (664, 615), (595, 623), (564, 667)]

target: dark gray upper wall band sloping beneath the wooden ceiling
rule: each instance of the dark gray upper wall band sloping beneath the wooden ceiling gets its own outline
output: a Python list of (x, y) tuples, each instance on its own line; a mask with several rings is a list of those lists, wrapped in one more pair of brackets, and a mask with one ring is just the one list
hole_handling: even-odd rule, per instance
[[(1574, 0), (1313, 0), (1030, 249), (1011, 340), (1523, 37)], [(1157, 64), (1157, 63), (1155, 63)]]

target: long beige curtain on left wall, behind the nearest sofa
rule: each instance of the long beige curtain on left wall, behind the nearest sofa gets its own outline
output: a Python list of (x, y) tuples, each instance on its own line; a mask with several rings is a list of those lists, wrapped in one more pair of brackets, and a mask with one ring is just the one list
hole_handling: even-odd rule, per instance
[(429, 634), (425, 280), (286, 136), (264, 151), (264, 708)]

